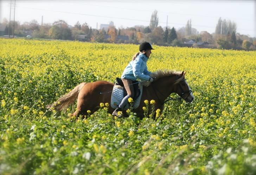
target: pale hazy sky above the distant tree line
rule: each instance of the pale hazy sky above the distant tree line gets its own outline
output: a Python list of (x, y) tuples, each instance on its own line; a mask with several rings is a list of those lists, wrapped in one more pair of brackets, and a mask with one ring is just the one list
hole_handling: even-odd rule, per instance
[[(0, 0), (0, 20), (9, 20), (11, 0)], [(12, 0), (11, 20), (14, 15)], [(219, 17), (237, 24), (237, 32), (256, 37), (256, 0), (16, 0), (15, 20), (41, 24), (65, 20), (69, 25), (87, 22), (92, 28), (114, 22), (116, 28), (148, 26), (151, 14), (158, 11), (159, 25), (184, 27), (191, 19), (192, 27), (215, 32)]]

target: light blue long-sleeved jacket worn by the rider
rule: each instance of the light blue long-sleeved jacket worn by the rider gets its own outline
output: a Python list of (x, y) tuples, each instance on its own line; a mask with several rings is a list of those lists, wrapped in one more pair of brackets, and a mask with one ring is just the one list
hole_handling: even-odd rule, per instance
[(130, 61), (126, 66), (121, 78), (132, 79), (133, 81), (136, 79), (149, 81), (149, 74), (151, 74), (151, 72), (148, 71), (147, 60), (148, 57), (140, 53), (135, 60)]

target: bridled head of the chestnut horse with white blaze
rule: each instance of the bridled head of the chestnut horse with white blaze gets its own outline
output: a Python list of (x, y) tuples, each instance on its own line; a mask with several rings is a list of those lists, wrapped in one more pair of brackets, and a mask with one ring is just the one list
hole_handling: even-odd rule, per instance
[(190, 89), (186, 79), (185, 79), (184, 71), (179, 75), (176, 76), (177, 80), (174, 82), (174, 85), (177, 86), (176, 93), (183, 98), (186, 102), (192, 102), (194, 99), (194, 95), (192, 90)]

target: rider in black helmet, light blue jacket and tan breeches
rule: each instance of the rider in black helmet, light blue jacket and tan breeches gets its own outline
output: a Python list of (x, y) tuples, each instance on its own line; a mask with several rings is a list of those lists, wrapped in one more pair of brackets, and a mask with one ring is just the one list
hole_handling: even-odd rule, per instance
[(118, 112), (124, 109), (124, 106), (128, 103), (129, 97), (134, 97), (134, 88), (132, 82), (136, 79), (153, 82), (153, 78), (149, 75), (151, 72), (147, 69), (147, 60), (151, 54), (152, 45), (148, 42), (140, 44), (139, 51), (133, 56), (133, 60), (126, 66), (122, 74), (122, 82), (124, 88), (127, 91), (127, 96), (122, 99), (120, 105), (113, 112), (113, 116), (119, 116)]

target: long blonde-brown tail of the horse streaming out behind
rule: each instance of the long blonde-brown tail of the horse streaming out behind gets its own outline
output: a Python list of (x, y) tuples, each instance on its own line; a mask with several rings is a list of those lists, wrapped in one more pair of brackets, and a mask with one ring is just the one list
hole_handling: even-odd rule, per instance
[(70, 105), (77, 99), (79, 92), (81, 91), (81, 89), (84, 87), (85, 84), (87, 84), (87, 83), (81, 83), (81, 84), (77, 85), (72, 91), (70, 91), (66, 95), (60, 97), (57, 100), (57, 102), (47, 105), (46, 108), (53, 108), (57, 111), (66, 109), (68, 107), (68, 105)]

